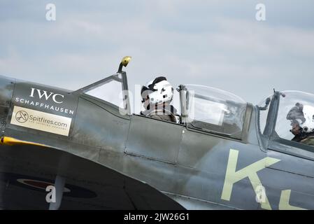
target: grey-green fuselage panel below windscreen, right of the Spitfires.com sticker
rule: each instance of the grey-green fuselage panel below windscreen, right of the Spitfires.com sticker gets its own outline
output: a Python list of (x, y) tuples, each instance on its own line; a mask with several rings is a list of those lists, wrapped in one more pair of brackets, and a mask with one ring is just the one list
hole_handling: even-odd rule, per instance
[(124, 117), (118, 109), (80, 97), (73, 142), (123, 152), (129, 130), (129, 116)]

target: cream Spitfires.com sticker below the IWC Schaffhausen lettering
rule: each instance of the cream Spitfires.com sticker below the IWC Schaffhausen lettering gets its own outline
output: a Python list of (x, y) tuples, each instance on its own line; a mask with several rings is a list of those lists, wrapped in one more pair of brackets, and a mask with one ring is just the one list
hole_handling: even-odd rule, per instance
[(71, 118), (14, 106), (11, 124), (69, 136)]

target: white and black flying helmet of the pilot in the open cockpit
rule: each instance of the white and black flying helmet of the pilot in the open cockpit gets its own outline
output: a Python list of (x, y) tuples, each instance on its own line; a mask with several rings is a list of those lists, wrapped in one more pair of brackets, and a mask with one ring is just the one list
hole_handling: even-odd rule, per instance
[(141, 89), (142, 102), (148, 98), (150, 104), (171, 102), (173, 87), (164, 76), (160, 76), (146, 83)]

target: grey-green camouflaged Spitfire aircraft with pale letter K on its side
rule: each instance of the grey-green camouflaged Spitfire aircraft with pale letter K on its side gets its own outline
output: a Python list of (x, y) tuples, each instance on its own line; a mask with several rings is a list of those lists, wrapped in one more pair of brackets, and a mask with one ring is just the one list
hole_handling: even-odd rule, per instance
[(313, 139), (286, 117), (313, 94), (180, 85), (157, 120), (131, 113), (130, 58), (76, 91), (0, 77), (1, 209), (314, 209)]

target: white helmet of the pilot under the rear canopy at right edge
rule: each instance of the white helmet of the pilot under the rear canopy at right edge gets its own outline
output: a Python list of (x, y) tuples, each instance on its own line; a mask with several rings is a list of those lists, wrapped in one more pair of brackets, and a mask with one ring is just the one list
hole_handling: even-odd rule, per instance
[(298, 124), (303, 133), (314, 132), (314, 107), (297, 103), (288, 112), (287, 120), (292, 126)]

